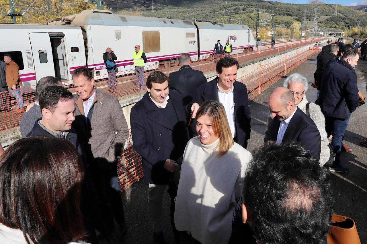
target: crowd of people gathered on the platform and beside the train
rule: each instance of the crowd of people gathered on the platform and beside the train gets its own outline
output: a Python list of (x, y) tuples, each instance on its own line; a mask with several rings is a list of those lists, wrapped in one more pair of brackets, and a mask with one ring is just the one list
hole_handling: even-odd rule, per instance
[[(153, 71), (143, 82), (146, 58), (135, 46), (137, 84), (147, 92), (131, 108), (131, 135), (142, 158), (153, 243), (164, 243), (166, 188), (176, 243), (327, 243), (329, 171), (349, 170), (341, 164), (342, 139), (363, 98), (355, 47), (328, 46), (312, 84), (316, 103), (306, 99), (303, 75), (287, 77), (269, 96), (264, 145), (252, 154), (247, 88), (236, 81), (236, 59), (220, 59), (217, 77), (207, 82), (182, 54), (178, 71)], [(103, 59), (113, 91), (117, 58), (107, 48)], [(1, 243), (95, 244), (108, 240), (115, 225), (121, 237), (127, 233), (117, 178), (126, 118), (118, 99), (94, 86), (89, 69), (76, 69), (72, 80), (74, 95), (56, 77), (39, 80), (20, 124), (23, 138), (0, 156)]]

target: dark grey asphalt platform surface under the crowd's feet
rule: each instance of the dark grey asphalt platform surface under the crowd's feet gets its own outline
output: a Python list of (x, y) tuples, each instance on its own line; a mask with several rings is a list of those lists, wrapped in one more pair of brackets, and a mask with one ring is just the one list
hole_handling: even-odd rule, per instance
[[(304, 75), (309, 84), (313, 82), (313, 73), (316, 70), (316, 55), (296, 67), (291, 73)], [(364, 72), (366, 70), (366, 72)], [(357, 65), (358, 87), (362, 94), (366, 93), (367, 60), (360, 60)], [(286, 77), (281, 78), (270, 86), (253, 101), (250, 102), (251, 110), (251, 139), (248, 141), (248, 151), (264, 143), (264, 134), (268, 116), (268, 97), (277, 86), (282, 86)], [(309, 86), (306, 92), (308, 101), (316, 100), (316, 89)], [(344, 144), (353, 148), (352, 152), (342, 152), (341, 162), (349, 167), (348, 173), (331, 173), (333, 195), (335, 199), (334, 212), (345, 215), (355, 220), (361, 243), (367, 243), (367, 148), (360, 145), (367, 136), (366, 131), (367, 104), (364, 104), (352, 113), (344, 137)], [(124, 237), (117, 234), (116, 229), (110, 233), (110, 243), (145, 244), (152, 243), (153, 230), (148, 212), (148, 184), (144, 181), (134, 183), (130, 188), (121, 193), (124, 202), (124, 211), (128, 223), (128, 233)], [(164, 239), (166, 243), (174, 244), (174, 236), (170, 223), (170, 198), (164, 194), (163, 202)], [(100, 243), (108, 243), (101, 241)], [(188, 243), (182, 241), (182, 243)]]

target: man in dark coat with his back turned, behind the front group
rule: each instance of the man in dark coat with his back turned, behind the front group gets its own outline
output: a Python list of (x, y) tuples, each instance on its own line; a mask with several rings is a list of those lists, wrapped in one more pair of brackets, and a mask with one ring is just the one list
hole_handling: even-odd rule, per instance
[(207, 80), (203, 72), (194, 70), (190, 66), (190, 55), (184, 53), (179, 58), (181, 65), (178, 71), (172, 72), (168, 77), (168, 86), (171, 90), (177, 90), (181, 95), (183, 106), (192, 102), (195, 90)]

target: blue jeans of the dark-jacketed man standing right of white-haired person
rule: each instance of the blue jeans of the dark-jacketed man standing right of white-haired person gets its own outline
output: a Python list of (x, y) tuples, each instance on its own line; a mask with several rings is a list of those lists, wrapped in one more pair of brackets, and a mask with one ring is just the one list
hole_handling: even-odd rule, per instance
[(331, 167), (342, 166), (340, 163), (340, 152), (342, 148), (344, 133), (346, 131), (346, 128), (348, 127), (349, 118), (350, 114), (347, 119), (338, 119), (325, 115), (325, 130), (327, 133), (327, 137), (329, 137), (331, 134), (333, 135), (331, 145), (334, 148), (335, 162)]

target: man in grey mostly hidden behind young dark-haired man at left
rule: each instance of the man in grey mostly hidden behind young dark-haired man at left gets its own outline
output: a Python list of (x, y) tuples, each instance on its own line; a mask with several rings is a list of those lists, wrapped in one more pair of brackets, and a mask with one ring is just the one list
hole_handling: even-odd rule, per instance
[(19, 129), (21, 131), (22, 137), (26, 137), (28, 133), (32, 130), (34, 126), (34, 122), (36, 122), (37, 119), (42, 117), (39, 99), (40, 99), (41, 92), (47, 86), (63, 86), (63, 85), (59, 78), (53, 77), (53, 76), (43, 77), (37, 82), (36, 101), (33, 103), (33, 105), (29, 105), (27, 107), (27, 110), (28, 108), (30, 109), (23, 114), (23, 117), (21, 119), (21, 124), (20, 124)]

